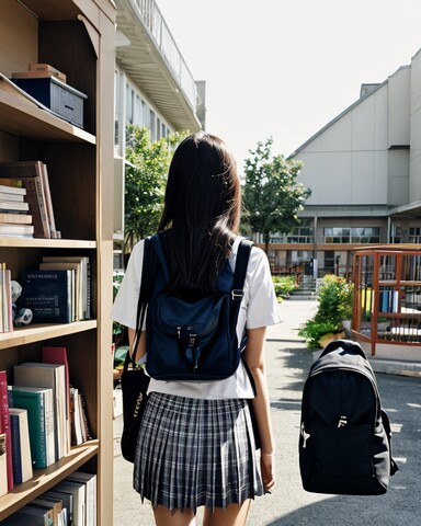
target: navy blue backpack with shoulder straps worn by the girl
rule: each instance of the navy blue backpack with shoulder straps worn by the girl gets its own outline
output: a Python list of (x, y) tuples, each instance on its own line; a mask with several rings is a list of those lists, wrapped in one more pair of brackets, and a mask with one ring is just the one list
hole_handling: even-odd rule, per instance
[[(246, 342), (237, 340), (237, 319), (252, 243), (241, 240), (236, 268), (228, 260), (217, 279), (217, 294), (186, 300), (168, 293), (169, 271), (162, 233), (146, 240), (153, 276), (146, 315), (147, 374), (159, 380), (220, 380), (240, 362)], [(164, 238), (162, 238), (162, 242)], [(144, 313), (138, 313), (141, 327)]]

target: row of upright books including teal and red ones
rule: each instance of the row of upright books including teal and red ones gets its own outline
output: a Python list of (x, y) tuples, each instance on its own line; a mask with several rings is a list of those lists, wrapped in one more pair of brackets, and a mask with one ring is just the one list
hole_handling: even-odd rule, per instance
[(69, 384), (67, 348), (44, 346), (42, 356), (15, 365), (13, 385), (0, 370), (0, 496), (92, 439), (81, 393)]

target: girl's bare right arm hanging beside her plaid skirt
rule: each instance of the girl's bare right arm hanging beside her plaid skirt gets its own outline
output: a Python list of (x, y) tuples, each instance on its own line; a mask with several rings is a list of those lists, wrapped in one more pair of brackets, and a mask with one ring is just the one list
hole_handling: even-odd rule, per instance
[(255, 398), (252, 400), (254, 416), (260, 434), (261, 469), (263, 485), (269, 491), (274, 484), (274, 438), (271, 422), (268, 382), (264, 369), (264, 345), (266, 328), (248, 330), (244, 358), (254, 378)]

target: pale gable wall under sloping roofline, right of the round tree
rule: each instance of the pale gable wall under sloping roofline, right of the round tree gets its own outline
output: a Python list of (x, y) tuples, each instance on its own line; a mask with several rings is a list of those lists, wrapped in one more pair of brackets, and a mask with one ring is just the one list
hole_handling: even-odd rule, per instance
[(296, 156), (308, 205), (387, 203), (387, 84), (332, 122)]

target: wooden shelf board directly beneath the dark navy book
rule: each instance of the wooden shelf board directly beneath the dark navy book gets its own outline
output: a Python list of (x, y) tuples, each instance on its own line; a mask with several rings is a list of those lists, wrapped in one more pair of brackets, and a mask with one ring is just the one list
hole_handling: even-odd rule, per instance
[(75, 321), (72, 323), (31, 324), (14, 328), (13, 332), (0, 334), (0, 350), (27, 343), (42, 342), (46, 339), (58, 338), (78, 332), (96, 329), (96, 320)]

